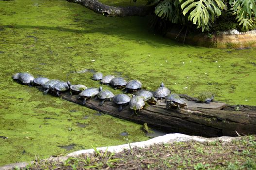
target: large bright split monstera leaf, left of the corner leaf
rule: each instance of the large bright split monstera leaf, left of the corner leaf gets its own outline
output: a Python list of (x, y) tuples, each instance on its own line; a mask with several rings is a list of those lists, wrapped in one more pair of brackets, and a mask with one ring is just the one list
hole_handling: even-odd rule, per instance
[(179, 0), (182, 13), (185, 16), (188, 13), (188, 20), (197, 25), (197, 28), (202, 27), (202, 31), (213, 22), (216, 16), (221, 15), (221, 10), (225, 4), (222, 0)]

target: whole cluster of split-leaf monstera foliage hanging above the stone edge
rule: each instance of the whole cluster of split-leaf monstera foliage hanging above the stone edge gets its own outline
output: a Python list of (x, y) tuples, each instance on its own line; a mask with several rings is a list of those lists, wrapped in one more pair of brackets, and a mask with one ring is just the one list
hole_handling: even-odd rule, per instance
[(191, 23), (202, 31), (209, 31), (222, 13), (234, 15), (237, 27), (241, 25), (240, 30), (245, 31), (254, 28), (256, 17), (256, 0), (148, 0), (148, 5), (155, 6), (154, 12), (161, 19), (173, 24)]

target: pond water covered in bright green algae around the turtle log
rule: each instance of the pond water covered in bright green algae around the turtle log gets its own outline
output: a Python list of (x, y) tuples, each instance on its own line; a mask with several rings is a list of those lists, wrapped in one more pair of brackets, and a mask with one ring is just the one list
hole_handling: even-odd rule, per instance
[(65, 0), (0, 1), (0, 136), (8, 137), (0, 137), (0, 165), (148, 139), (141, 125), (14, 82), (16, 72), (99, 87), (91, 72), (77, 73), (93, 69), (139, 79), (149, 90), (164, 82), (175, 93), (207, 90), (218, 101), (256, 105), (256, 48), (182, 45), (149, 31), (147, 22), (104, 17)]

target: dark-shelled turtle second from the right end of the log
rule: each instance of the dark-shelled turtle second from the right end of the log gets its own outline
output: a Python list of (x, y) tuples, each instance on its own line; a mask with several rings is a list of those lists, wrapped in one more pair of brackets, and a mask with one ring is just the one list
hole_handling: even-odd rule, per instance
[(187, 106), (187, 103), (182, 98), (180, 98), (178, 94), (175, 93), (166, 96), (165, 102), (166, 108), (168, 109), (180, 109), (181, 107)]

